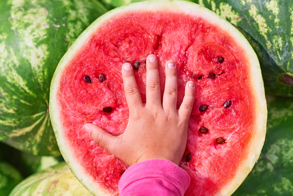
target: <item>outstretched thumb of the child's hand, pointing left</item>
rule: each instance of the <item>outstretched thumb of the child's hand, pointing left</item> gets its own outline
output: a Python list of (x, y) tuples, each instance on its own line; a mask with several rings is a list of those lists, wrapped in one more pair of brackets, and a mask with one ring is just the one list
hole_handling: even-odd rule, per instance
[(101, 127), (92, 123), (85, 124), (83, 126), (83, 131), (89, 134), (97, 144), (113, 153), (114, 147), (117, 146), (116, 143), (118, 138), (116, 136), (112, 136)]

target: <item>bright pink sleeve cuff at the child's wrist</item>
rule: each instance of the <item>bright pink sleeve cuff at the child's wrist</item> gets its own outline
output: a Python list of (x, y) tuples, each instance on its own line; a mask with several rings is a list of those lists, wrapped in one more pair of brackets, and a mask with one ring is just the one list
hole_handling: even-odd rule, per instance
[(183, 196), (189, 183), (188, 174), (175, 163), (150, 159), (129, 167), (118, 188), (120, 196)]

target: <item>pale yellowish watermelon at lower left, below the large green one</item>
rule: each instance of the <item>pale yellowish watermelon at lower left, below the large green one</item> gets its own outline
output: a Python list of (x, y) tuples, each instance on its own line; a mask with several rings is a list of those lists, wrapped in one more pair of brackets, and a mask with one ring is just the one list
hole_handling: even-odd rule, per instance
[(92, 196), (79, 183), (65, 162), (39, 171), (19, 183), (9, 196)]

